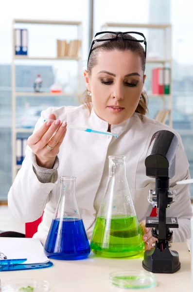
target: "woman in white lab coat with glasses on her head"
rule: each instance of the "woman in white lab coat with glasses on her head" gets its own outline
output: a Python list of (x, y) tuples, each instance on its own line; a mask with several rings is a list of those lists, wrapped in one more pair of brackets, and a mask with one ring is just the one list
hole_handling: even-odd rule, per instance
[[(144, 219), (151, 213), (147, 196), (150, 189), (155, 189), (155, 180), (145, 175), (144, 160), (155, 132), (175, 131), (145, 116), (147, 102), (142, 89), (146, 50), (140, 42), (127, 33), (101, 37), (100, 34), (97, 34), (100, 41), (92, 42), (88, 71), (84, 71), (87, 87), (84, 105), (49, 108), (42, 112), (28, 139), (26, 158), (9, 191), (9, 209), (23, 222), (34, 221), (44, 211), (35, 237), (45, 238), (59, 199), (58, 177), (76, 176), (76, 198), (89, 238), (104, 196), (108, 155), (126, 155), (127, 180), (145, 247), (151, 249), (155, 238), (151, 230), (144, 227)], [(137, 37), (141, 35), (136, 33)], [(143, 41), (146, 45), (145, 38)], [(56, 121), (42, 125), (43, 118)], [(118, 134), (118, 138), (67, 130), (68, 123), (110, 131)], [(178, 217), (179, 228), (174, 230), (173, 240), (186, 241), (190, 237), (192, 217), (189, 186), (176, 185), (176, 181), (190, 177), (189, 164), (181, 138), (175, 135), (179, 147), (170, 190), (176, 190), (177, 199), (167, 210), (167, 216)]]

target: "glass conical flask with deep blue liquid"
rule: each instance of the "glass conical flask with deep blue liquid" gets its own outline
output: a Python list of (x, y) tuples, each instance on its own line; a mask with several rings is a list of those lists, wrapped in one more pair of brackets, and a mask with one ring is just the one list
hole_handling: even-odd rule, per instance
[(75, 198), (75, 184), (75, 177), (60, 177), (60, 199), (44, 247), (45, 254), (54, 259), (83, 259), (90, 253)]

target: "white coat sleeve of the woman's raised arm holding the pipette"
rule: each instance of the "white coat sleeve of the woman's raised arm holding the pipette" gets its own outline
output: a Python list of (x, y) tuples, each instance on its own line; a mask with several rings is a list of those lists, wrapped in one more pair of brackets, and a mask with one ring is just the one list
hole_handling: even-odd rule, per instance
[[(48, 117), (52, 112), (53, 108), (42, 111), (34, 132), (42, 126), (42, 117)], [(15, 219), (22, 222), (34, 221), (42, 215), (46, 203), (50, 200), (49, 194), (55, 187), (54, 176), (57, 176), (55, 171), (51, 183), (40, 183), (33, 170), (31, 153), (31, 148), (27, 146), (22, 167), (8, 193), (9, 210)]]

